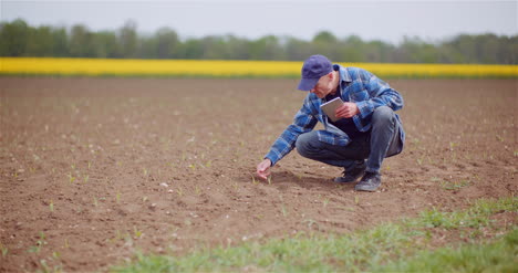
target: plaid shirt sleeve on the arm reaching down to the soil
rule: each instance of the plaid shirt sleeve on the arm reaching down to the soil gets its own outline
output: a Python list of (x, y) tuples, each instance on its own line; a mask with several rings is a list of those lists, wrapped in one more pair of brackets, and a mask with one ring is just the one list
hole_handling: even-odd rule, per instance
[(277, 138), (271, 146), (270, 151), (265, 156), (265, 158), (269, 158), (271, 160), (271, 166), (276, 165), (294, 148), (299, 135), (311, 132), (314, 128), (318, 122), (314, 117), (317, 113), (318, 112), (312, 106), (312, 102), (308, 95), (302, 107), (296, 114), (293, 123), (284, 129), (279, 138)]

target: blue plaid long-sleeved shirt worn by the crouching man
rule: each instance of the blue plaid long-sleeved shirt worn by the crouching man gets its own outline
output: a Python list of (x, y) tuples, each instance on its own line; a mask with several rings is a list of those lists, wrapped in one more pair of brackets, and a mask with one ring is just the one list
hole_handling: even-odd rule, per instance
[[(376, 107), (386, 105), (393, 111), (403, 107), (401, 94), (369, 71), (338, 64), (334, 64), (334, 70), (340, 71), (340, 97), (344, 102), (356, 103), (360, 109), (360, 113), (352, 117), (360, 132), (371, 129), (372, 113)], [(293, 118), (293, 124), (286, 128), (265, 156), (271, 160), (272, 166), (288, 155), (294, 148), (299, 135), (311, 132), (317, 122), (321, 122), (325, 128), (317, 133), (320, 141), (340, 146), (346, 146), (351, 141), (345, 133), (329, 123), (328, 116), (320, 108), (321, 104), (322, 99), (315, 94), (309, 93), (305, 96), (302, 107)], [(400, 119), (397, 115), (396, 117)], [(404, 143), (404, 139), (405, 134), (402, 132), (401, 140)]]

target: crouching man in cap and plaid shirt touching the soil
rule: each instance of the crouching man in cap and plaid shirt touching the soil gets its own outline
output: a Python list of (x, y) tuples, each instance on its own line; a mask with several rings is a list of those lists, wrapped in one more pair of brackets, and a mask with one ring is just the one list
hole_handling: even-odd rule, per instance
[[(394, 113), (403, 107), (403, 97), (372, 73), (358, 67), (332, 64), (323, 55), (304, 61), (299, 90), (309, 91), (293, 124), (273, 143), (257, 175), (267, 179), (271, 167), (297, 147), (303, 157), (343, 167), (335, 182), (354, 182), (359, 191), (375, 191), (381, 185), (385, 157), (403, 150), (405, 133)], [(332, 122), (320, 106), (340, 97), (340, 119)], [(321, 122), (323, 130), (312, 129)]]

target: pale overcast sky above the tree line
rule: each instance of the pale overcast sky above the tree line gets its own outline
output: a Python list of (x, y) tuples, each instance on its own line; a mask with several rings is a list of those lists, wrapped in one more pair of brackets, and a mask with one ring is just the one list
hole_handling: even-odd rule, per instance
[(437, 42), (459, 33), (518, 34), (517, 0), (0, 0), (1, 21), (31, 25), (82, 23), (91, 30), (117, 30), (132, 19), (137, 31), (174, 29), (183, 39), (267, 34), (309, 40), (322, 30), (338, 38), (398, 43), (406, 36)]

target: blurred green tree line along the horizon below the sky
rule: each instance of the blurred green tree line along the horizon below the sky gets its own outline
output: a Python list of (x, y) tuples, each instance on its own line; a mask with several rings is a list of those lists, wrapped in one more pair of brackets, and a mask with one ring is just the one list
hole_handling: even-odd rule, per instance
[(329, 31), (311, 41), (230, 34), (183, 40), (169, 28), (139, 34), (134, 21), (115, 31), (91, 31), (83, 24), (31, 27), (21, 19), (0, 22), (0, 56), (303, 61), (317, 53), (335, 62), (517, 64), (518, 35), (460, 34), (438, 43), (405, 38), (394, 45), (358, 35), (339, 39)]

